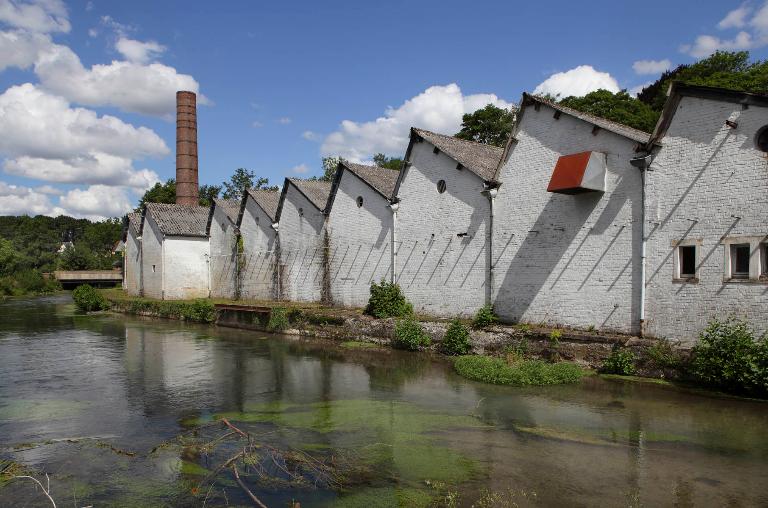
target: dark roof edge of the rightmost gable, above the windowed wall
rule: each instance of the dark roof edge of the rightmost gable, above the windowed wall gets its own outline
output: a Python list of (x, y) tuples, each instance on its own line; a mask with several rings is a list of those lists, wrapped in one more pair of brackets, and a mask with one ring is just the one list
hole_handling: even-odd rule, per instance
[(731, 102), (741, 104), (742, 106), (760, 106), (768, 107), (768, 95), (741, 92), (738, 90), (728, 90), (727, 88), (716, 88), (711, 86), (687, 85), (679, 81), (674, 81), (669, 87), (667, 101), (664, 103), (664, 109), (661, 111), (661, 117), (656, 123), (653, 135), (648, 141), (647, 148), (650, 149), (654, 143), (658, 143), (666, 135), (669, 124), (675, 116), (680, 99), (683, 97), (697, 97), (699, 99), (708, 99), (719, 102)]

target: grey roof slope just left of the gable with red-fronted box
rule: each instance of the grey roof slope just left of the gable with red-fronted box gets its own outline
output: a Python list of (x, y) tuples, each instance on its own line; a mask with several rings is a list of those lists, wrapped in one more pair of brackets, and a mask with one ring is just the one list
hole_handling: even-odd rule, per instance
[(467, 141), (415, 127), (411, 128), (411, 139), (414, 135), (429, 141), (440, 151), (486, 182), (493, 180), (499, 159), (501, 159), (501, 154), (504, 151), (498, 146)]

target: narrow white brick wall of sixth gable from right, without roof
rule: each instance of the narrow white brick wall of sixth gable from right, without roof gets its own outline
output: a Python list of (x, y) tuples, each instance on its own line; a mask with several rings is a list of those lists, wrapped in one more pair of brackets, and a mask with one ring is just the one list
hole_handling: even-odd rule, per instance
[(276, 298), (274, 275), (277, 232), (272, 228), (272, 219), (250, 196), (240, 221), (240, 235), (243, 238), (245, 257), (241, 297), (245, 300)]

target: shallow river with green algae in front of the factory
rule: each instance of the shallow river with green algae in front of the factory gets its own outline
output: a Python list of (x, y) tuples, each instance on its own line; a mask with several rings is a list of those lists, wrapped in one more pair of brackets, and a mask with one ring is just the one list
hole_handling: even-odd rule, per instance
[[(65, 294), (0, 303), (0, 464), (47, 473), (58, 506), (247, 504), (229, 470), (206, 478), (241, 446), (221, 417), (272, 464), (241, 469), (270, 507), (768, 506), (763, 402), (600, 376), (489, 386), (423, 354), (84, 316)], [(289, 482), (265, 450), (338, 467), (344, 488)], [(50, 502), (6, 477), (0, 505)]]

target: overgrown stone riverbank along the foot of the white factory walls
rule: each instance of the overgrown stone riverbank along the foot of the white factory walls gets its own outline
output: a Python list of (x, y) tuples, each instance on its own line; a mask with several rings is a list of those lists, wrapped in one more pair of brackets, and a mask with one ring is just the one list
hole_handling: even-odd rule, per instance
[[(233, 301), (224, 299), (163, 301), (138, 298), (122, 290), (102, 290), (112, 310), (132, 315), (209, 322), (218, 326), (286, 335), (317, 337), (338, 342), (355, 341), (391, 347), (395, 335), (394, 318), (377, 319), (362, 309), (326, 307), (316, 303), (275, 301)], [(203, 303), (205, 302), (205, 303)], [(193, 319), (184, 309), (190, 305), (209, 306), (206, 319)], [(186, 316), (186, 317), (185, 317)], [(449, 320), (416, 316), (431, 339), (425, 349), (437, 352), (450, 326)], [(569, 361), (599, 370), (616, 349), (631, 353), (634, 373), (638, 376), (681, 379), (683, 373), (675, 360), (686, 358), (689, 351), (674, 349), (666, 342), (631, 335), (568, 330), (530, 324), (495, 324), (482, 330), (470, 328), (471, 354), (506, 356), (516, 354), (549, 361)]]

